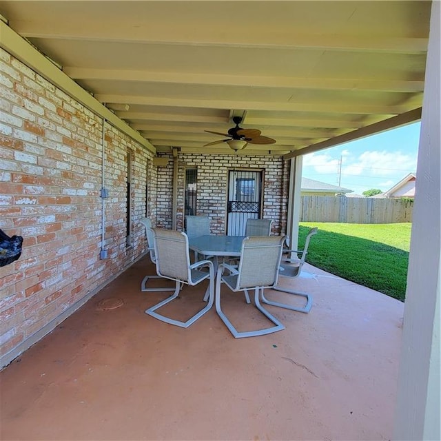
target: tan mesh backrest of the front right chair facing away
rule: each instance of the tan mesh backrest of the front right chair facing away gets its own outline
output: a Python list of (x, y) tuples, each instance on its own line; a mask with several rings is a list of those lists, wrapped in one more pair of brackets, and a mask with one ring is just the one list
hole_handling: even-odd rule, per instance
[(252, 287), (273, 287), (285, 236), (254, 236), (243, 240), (236, 290)]

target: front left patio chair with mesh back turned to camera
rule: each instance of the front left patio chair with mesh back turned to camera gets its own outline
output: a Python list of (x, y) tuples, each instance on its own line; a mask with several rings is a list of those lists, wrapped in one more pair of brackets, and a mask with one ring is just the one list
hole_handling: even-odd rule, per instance
[[(154, 228), (154, 250), (156, 253), (156, 272), (158, 276), (175, 280), (175, 289), (172, 296), (167, 297), (158, 304), (145, 310), (145, 314), (183, 328), (187, 328), (198, 318), (203, 316), (212, 307), (214, 302), (214, 266), (210, 260), (201, 260), (190, 263), (187, 234), (168, 229)], [(207, 268), (208, 271), (201, 271)], [(157, 309), (167, 305), (179, 295), (183, 283), (198, 285), (205, 279), (209, 279), (208, 303), (194, 316), (185, 322), (163, 316), (156, 312)]]

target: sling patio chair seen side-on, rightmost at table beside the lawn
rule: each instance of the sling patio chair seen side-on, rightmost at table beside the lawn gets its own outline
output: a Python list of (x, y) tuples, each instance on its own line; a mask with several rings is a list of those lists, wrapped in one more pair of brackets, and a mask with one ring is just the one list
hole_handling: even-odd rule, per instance
[[(282, 257), (280, 261), (280, 267), (279, 267), (279, 273), (278, 275), (280, 277), (287, 277), (287, 278), (297, 278), (300, 276), (300, 273), (302, 272), (303, 264), (305, 263), (305, 258), (307, 255), (307, 249), (309, 247), (309, 241), (311, 240), (311, 237), (314, 236), (314, 234), (317, 234), (317, 227), (311, 228), (309, 230), (309, 233), (307, 234), (306, 240), (305, 240), (305, 247), (302, 249), (302, 251), (298, 251), (296, 249), (283, 249), (283, 254), (287, 254), (287, 257)], [(291, 257), (292, 254), (296, 254), (300, 257)], [(294, 294), (294, 296), (302, 296), (306, 298), (306, 305), (304, 307), (296, 307), (292, 305), (287, 305), (285, 303), (280, 302), (274, 302), (272, 300), (269, 300), (265, 297), (264, 291), (262, 291), (261, 299), (263, 303), (266, 303), (267, 305), (273, 305), (280, 308), (285, 309), (291, 309), (291, 311), (298, 311), (298, 312), (304, 312), (307, 314), (312, 307), (312, 297), (305, 293), (300, 291), (293, 291), (291, 289), (280, 287), (279, 285), (274, 286), (272, 289), (275, 291), (281, 291), (285, 292), (287, 294)]]

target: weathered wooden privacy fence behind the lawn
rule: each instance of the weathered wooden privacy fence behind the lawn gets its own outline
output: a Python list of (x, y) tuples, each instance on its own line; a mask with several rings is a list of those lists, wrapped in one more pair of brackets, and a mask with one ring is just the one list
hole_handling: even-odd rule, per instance
[(347, 198), (301, 196), (300, 222), (411, 222), (413, 200), (407, 198)]

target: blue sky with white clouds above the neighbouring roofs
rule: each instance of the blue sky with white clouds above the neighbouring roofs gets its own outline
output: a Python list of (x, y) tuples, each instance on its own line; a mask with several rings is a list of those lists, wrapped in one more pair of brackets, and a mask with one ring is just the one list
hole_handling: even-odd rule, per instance
[(302, 176), (351, 189), (356, 194), (373, 188), (386, 192), (416, 172), (420, 125), (404, 125), (307, 154), (303, 156)]

